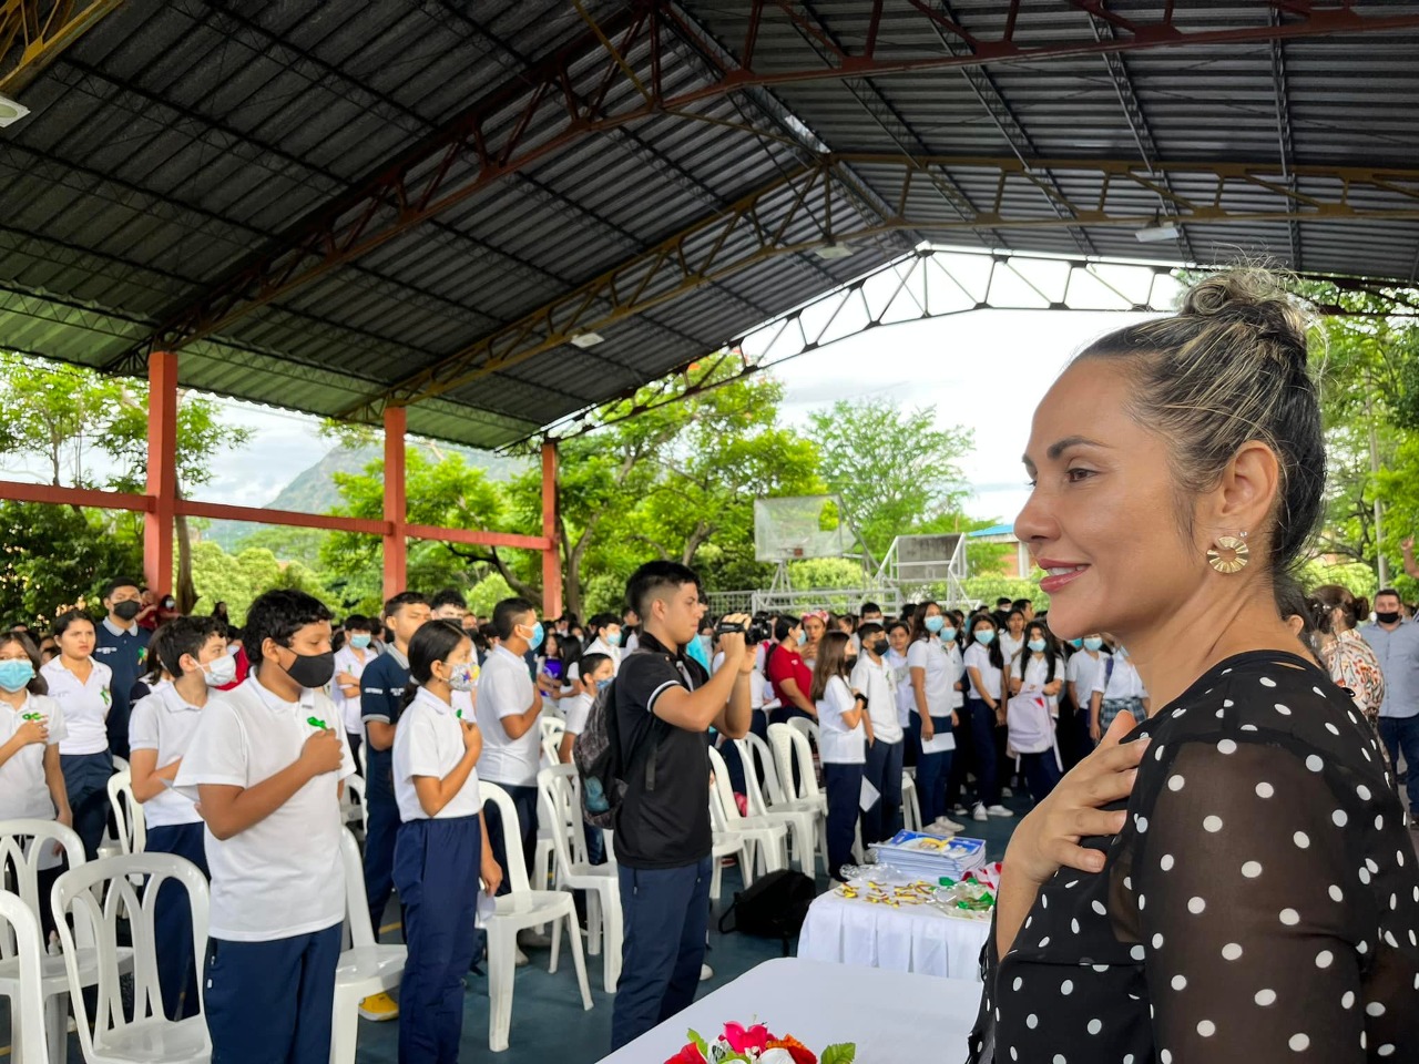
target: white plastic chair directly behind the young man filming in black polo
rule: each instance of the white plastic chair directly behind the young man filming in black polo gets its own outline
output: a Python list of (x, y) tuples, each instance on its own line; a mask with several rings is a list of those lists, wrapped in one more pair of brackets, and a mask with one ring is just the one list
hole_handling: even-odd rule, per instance
[[(575, 836), (582, 830), (580, 780), (575, 765), (542, 769), (536, 775), (541, 820), (552, 829), (556, 847), (556, 888), (586, 891), (586, 952), (602, 955), (602, 983), (606, 993), (616, 993), (622, 962), (620, 875), (614, 864), (590, 864), (585, 858), (586, 844), (578, 847)], [(576, 860), (580, 848), (583, 857)], [(604, 943), (603, 943), (604, 939)]]

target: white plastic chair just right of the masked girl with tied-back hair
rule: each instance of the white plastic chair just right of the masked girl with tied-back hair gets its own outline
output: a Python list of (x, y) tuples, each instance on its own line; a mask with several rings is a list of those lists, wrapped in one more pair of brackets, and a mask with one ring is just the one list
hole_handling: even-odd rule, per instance
[[(521, 837), (518, 810), (508, 792), (497, 783), (478, 783), (484, 803), (492, 802), (502, 817), (502, 837)], [(528, 887), (528, 870), (522, 863), (518, 846), (507, 847), (504, 874), (511, 884), (508, 894), (495, 899), (495, 911), (487, 919), (488, 931), (488, 1048), (502, 1053), (508, 1047), (508, 1029), (512, 1023), (512, 973), (514, 956), (518, 948), (518, 932), (542, 924), (552, 925), (552, 960), (548, 972), (556, 972), (562, 948), (562, 921), (566, 921), (568, 936), (572, 939), (572, 960), (576, 963), (576, 982), (582, 989), (582, 1009), (592, 1007), (592, 989), (586, 983), (586, 958), (582, 956), (582, 936), (576, 926), (576, 907), (572, 895), (565, 891), (535, 891)]]

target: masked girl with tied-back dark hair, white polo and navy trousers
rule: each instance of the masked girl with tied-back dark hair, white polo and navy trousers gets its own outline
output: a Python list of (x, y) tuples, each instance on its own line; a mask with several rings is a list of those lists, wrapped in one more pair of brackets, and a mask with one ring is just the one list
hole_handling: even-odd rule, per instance
[(454, 620), (431, 620), (409, 640), (404, 708), (394, 731), (394, 888), (404, 907), (409, 959), (400, 982), (399, 1060), (457, 1064), (463, 975), (474, 959), (478, 877), (502, 881), (482, 830), (482, 732), (457, 708), (473, 689), (473, 641)]

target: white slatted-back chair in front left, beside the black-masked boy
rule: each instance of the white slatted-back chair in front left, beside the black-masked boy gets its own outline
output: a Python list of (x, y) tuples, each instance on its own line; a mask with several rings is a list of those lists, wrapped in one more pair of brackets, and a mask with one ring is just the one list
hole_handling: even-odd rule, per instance
[[(109, 857), (72, 868), (54, 884), (54, 916), (87, 1064), (207, 1064), (211, 1060), (201, 979), (197, 980), (196, 1016), (169, 1020), (163, 1014), (153, 914), (158, 891), (167, 882), (187, 891), (193, 956), (201, 963), (207, 952), (207, 877), (192, 861), (176, 854)], [(128, 916), (132, 951), (118, 945), (121, 914)], [(75, 946), (75, 932), (81, 928), (92, 935), (98, 953), (98, 1014), (92, 1031), (84, 1000), (88, 983)], [(123, 1006), (121, 980), (125, 969), (133, 973), (132, 1017)], [(254, 1017), (254, 1021), (260, 1020)]]

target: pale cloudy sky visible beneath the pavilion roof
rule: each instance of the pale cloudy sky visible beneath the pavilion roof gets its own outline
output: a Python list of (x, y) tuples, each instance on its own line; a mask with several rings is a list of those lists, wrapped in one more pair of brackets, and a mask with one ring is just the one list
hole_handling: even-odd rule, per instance
[[(1020, 453), (1030, 413), (1070, 355), (1094, 336), (1145, 315), (1080, 311), (973, 311), (873, 329), (782, 363), (783, 416), (802, 424), (807, 413), (854, 396), (888, 396), (904, 407), (934, 406), (942, 426), (975, 430), (976, 450), (964, 462), (972, 516), (1013, 521), (1025, 502)], [(223, 462), (199, 498), (260, 506), (329, 443), (318, 420), (220, 400), (227, 416), (254, 437)], [(43, 462), (7, 457), (0, 475), (47, 480)]]

